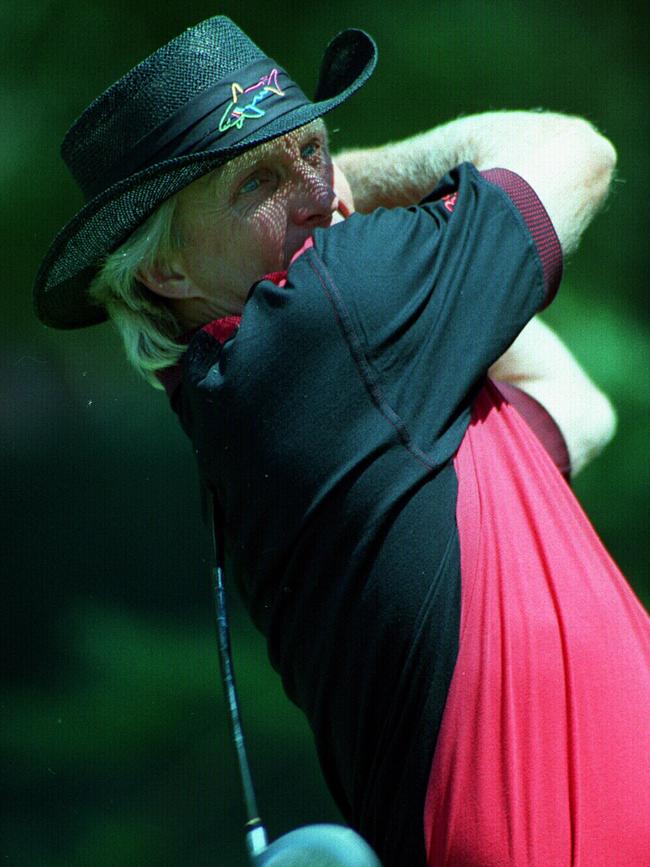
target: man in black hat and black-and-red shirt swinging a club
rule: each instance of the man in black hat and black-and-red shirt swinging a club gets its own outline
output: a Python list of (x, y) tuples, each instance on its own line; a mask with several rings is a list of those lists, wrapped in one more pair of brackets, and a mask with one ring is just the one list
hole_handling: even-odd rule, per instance
[(534, 319), (614, 150), (497, 112), (334, 164), (320, 118), (374, 63), (341, 34), (312, 103), (224, 18), (143, 61), (68, 133), (88, 201), (37, 311), (108, 312), (164, 382), (384, 864), (641, 867), (648, 620), (561, 475), (613, 416)]

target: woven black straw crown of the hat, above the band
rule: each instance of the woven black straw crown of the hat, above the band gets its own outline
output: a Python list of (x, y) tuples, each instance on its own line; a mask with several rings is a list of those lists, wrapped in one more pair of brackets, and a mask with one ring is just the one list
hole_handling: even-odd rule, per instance
[(266, 57), (229, 18), (202, 21), (159, 48), (98, 97), (74, 122), (61, 156), (90, 198), (97, 178), (189, 100)]

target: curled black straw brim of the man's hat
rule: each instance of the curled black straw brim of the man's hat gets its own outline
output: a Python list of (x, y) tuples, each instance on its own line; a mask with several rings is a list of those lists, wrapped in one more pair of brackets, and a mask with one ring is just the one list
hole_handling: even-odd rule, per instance
[(365, 84), (377, 46), (362, 30), (345, 30), (328, 45), (315, 101), (251, 132), (237, 145), (174, 157), (113, 184), (91, 199), (54, 239), (34, 282), (34, 309), (45, 325), (83, 328), (106, 320), (88, 286), (111, 251), (167, 198), (253, 146), (285, 135), (336, 108)]

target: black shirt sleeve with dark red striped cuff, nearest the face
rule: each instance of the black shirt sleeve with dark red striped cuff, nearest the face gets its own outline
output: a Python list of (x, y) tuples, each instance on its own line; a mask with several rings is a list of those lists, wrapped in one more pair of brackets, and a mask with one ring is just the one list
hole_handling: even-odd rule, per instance
[(466, 163), (417, 206), (316, 232), (289, 281), (308, 271), (383, 411), (444, 459), (488, 368), (555, 292), (561, 256), (523, 179)]

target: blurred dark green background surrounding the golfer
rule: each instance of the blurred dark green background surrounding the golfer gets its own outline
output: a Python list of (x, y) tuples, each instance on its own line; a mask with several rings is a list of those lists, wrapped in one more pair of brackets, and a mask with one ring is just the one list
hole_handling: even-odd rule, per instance
[[(0, 856), (12, 867), (244, 865), (191, 451), (164, 396), (107, 326), (53, 332), (30, 286), (80, 204), (58, 157), (72, 120), (183, 28), (233, 17), (310, 93), (324, 45), (360, 26), (374, 78), (330, 117), (334, 148), (489, 108), (582, 114), (619, 177), (547, 319), (612, 396), (619, 432), (576, 483), (646, 606), (648, 586), (647, 4), (329, 0), (0, 5), (3, 745)], [(236, 664), (272, 835), (336, 820), (308, 732), (233, 601)], [(633, 697), (631, 697), (633, 700)]]

